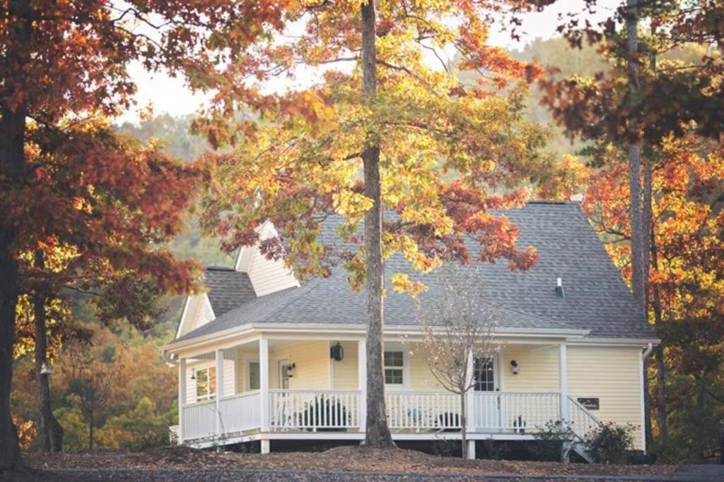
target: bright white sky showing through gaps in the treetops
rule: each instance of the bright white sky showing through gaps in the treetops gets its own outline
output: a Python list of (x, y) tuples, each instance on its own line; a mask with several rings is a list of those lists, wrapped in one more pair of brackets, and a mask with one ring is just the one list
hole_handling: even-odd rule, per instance
[[(610, 15), (612, 10), (619, 4), (618, 0), (599, 0), (598, 13), (593, 20)], [(502, 32), (499, 26), (493, 25), (490, 29), (489, 41), (492, 45), (510, 49), (521, 49), (527, 43), (536, 38), (550, 38), (557, 35), (555, 27), (560, 23), (559, 14), (568, 12), (581, 12), (584, 0), (560, 0), (552, 7), (547, 7), (543, 12), (532, 12), (523, 17), (521, 27), (521, 40), (513, 41), (510, 33)], [(140, 111), (151, 107), (154, 114), (169, 113), (172, 116), (183, 116), (192, 114), (203, 107), (206, 96), (201, 93), (193, 93), (188, 90), (182, 78), (172, 78), (166, 74), (149, 74), (140, 64), (132, 64), (129, 67), (132, 79), (138, 85), (138, 92), (135, 95), (136, 108), (131, 109), (118, 121), (137, 122)], [(290, 80), (287, 78), (277, 79), (271, 82), (271, 90), (284, 91), (292, 87), (299, 87), (316, 77), (318, 72), (303, 72), (301, 78)]]

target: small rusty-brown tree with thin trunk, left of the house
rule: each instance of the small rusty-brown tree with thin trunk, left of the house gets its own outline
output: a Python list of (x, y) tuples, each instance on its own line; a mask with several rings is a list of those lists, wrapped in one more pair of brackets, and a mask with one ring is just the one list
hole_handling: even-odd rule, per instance
[(80, 408), (88, 419), (88, 449), (93, 450), (96, 416), (111, 397), (114, 379), (120, 367), (113, 360), (93, 363), (86, 348), (76, 346), (70, 350), (64, 375), (70, 392), (77, 396)]

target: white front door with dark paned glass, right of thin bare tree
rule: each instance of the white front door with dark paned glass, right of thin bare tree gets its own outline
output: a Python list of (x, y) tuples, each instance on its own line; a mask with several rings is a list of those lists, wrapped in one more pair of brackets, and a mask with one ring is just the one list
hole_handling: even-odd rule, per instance
[(473, 360), (473, 386), (476, 427), (483, 431), (500, 428), (500, 394), (496, 376), (497, 356), (479, 357)]

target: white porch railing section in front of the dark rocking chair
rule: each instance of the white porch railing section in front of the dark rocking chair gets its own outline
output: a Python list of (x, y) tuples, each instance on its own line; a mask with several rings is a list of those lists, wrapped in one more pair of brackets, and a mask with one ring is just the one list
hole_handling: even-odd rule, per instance
[(275, 431), (346, 431), (360, 426), (359, 390), (269, 390)]

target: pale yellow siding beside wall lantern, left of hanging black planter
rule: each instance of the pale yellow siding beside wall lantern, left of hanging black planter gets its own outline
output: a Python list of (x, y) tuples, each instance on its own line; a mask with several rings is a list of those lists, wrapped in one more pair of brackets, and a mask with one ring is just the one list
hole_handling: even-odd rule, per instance
[(269, 348), (269, 387), (279, 388), (279, 361), (285, 358), (297, 366), (289, 382), (291, 389), (329, 388), (328, 341), (305, 341)]

